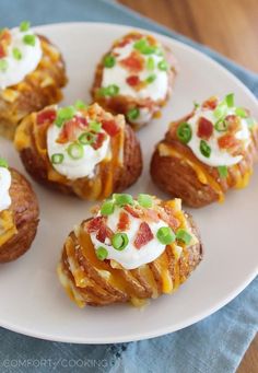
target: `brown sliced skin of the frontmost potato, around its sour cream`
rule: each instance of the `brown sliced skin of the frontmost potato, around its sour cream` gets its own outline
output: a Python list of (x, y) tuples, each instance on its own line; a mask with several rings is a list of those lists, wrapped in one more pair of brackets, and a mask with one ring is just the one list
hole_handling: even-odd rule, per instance
[[(198, 238), (198, 243), (187, 248), (187, 253), (181, 255), (177, 261), (177, 266), (175, 256), (172, 254), (172, 250), (168, 248), (168, 246), (164, 252), (171, 279), (175, 281), (176, 276), (179, 276), (179, 283), (177, 283), (177, 285), (187, 280), (187, 278), (200, 264), (203, 256), (203, 247), (198, 229), (192, 218), (188, 213), (185, 213), (185, 215), (189, 226), (192, 229), (192, 233)], [(86, 221), (83, 223), (85, 222)], [(84, 276), (87, 280), (86, 285), (83, 288), (77, 287), (73, 275), (69, 268), (67, 248), (71, 246), (75, 247), (75, 260), (80, 265), (80, 268), (83, 269)], [(145, 301), (151, 298), (156, 298), (163, 293), (163, 280), (157, 269), (159, 258), (145, 265), (153, 276), (154, 287), (144, 279), (144, 277), (141, 275), (140, 268), (131, 270), (116, 269), (114, 276), (121, 278), (126, 282), (127, 290), (125, 291), (116, 287), (116, 284), (108, 282), (99, 275), (92, 260), (92, 255), (89, 255), (89, 257), (83, 255), (83, 250), (80, 246), (80, 241), (77, 234), (71, 232), (63, 246), (59, 271), (61, 268), (61, 272), (69, 279), (69, 282), (72, 284), (73, 289), (75, 289), (75, 291), (82, 295), (86, 305), (103, 306), (114, 303), (126, 303), (131, 301), (132, 298), (138, 298), (139, 300)], [(112, 268), (109, 264), (105, 264), (105, 266), (106, 270)], [(176, 271), (178, 271), (177, 275)]]

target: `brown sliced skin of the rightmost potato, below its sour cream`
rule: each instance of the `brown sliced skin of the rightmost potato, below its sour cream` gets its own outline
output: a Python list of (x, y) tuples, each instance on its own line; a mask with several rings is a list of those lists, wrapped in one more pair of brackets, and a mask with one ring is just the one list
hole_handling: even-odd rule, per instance
[(258, 128), (253, 131), (251, 143), (246, 150), (243, 160), (238, 163), (237, 170), (234, 166), (227, 167), (228, 176), (223, 179), (220, 177), (216, 167), (201, 163), (190, 148), (177, 140), (176, 129), (179, 124), (187, 121), (187, 118), (184, 117), (171, 125), (165, 139), (154, 150), (150, 172), (153, 182), (162, 190), (173, 197), (181, 198), (189, 207), (201, 208), (219, 200), (220, 196), (214, 185), (201, 183), (196, 171), (184, 160), (173, 155), (161, 155), (159, 147), (161, 144), (168, 145), (172, 149), (176, 149), (178, 153), (186, 155), (187, 159), (192, 160), (195, 164), (200, 165), (207, 175), (218, 184), (222, 194), (225, 194), (228, 189), (237, 187), (238, 174), (244, 178), (251, 172), (258, 156)]

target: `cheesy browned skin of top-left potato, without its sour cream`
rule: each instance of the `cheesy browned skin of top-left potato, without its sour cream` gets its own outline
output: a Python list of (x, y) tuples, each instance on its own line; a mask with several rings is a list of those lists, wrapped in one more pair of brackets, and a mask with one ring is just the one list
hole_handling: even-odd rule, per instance
[[(17, 124), (28, 114), (62, 100), (61, 88), (67, 84), (62, 56), (48, 38), (38, 35), (43, 57), (37, 68), (24, 80), (0, 93), (0, 135), (13, 139)], [(45, 83), (47, 80), (51, 82)], [(14, 101), (7, 98), (13, 95)]]

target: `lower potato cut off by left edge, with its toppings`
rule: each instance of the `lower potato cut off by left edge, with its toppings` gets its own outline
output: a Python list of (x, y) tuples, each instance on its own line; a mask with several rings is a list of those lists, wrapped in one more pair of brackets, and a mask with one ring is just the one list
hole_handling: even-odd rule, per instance
[(0, 159), (0, 263), (16, 259), (31, 247), (38, 213), (31, 184)]

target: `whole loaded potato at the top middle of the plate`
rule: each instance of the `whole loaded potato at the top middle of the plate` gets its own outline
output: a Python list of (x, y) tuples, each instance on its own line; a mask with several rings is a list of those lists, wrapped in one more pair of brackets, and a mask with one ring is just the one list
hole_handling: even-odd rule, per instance
[(139, 129), (160, 115), (167, 102), (177, 63), (151, 35), (131, 32), (116, 40), (95, 72), (92, 96), (114, 114), (124, 114)]

